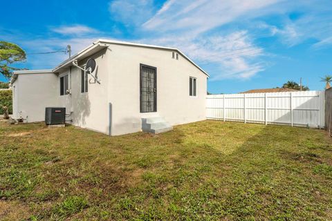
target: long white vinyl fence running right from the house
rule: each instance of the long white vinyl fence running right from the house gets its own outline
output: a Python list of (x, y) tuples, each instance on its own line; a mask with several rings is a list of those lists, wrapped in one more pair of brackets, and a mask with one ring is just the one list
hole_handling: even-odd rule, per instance
[(208, 95), (208, 119), (324, 127), (324, 91)]

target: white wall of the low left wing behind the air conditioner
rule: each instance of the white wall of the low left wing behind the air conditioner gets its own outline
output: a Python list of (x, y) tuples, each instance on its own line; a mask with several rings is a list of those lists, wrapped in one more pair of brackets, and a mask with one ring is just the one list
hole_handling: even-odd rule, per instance
[(45, 120), (45, 108), (57, 106), (57, 75), (53, 73), (20, 74), (12, 84), (13, 118), (26, 122)]

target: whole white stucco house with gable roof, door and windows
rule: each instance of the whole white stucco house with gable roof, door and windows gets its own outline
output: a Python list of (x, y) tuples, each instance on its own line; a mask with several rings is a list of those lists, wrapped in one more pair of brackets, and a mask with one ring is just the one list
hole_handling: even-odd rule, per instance
[[(73, 66), (89, 58), (100, 84)], [(40, 122), (46, 107), (66, 107), (69, 124), (108, 135), (142, 131), (142, 122), (197, 122), (205, 119), (208, 77), (176, 48), (100, 39), (53, 70), (15, 71), (13, 118)]]

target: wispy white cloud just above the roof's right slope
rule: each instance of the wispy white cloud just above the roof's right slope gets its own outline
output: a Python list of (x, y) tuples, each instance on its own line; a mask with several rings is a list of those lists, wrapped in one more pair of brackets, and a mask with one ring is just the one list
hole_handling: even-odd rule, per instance
[(178, 37), (142, 39), (144, 43), (179, 48), (201, 66), (217, 66), (211, 80), (225, 78), (248, 79), (264, 70), (264, 66), (253, 61), (264, 55), (264, 50), (255, 46), (248, 32), (242, 30), (228, 35), (214, 34), (210, 37)]

